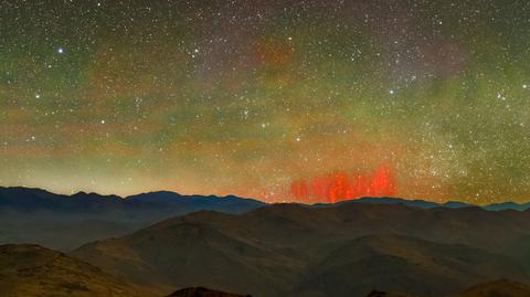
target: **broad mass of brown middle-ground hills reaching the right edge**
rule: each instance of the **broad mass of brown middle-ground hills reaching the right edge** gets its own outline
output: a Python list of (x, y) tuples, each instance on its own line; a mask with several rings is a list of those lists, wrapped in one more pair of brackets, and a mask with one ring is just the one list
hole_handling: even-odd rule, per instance
[(530, 280), (529, 248), (530, 211), (276, 204), (174, 218), (71, 256), (153, 288), (439, 297), (494, 279)]

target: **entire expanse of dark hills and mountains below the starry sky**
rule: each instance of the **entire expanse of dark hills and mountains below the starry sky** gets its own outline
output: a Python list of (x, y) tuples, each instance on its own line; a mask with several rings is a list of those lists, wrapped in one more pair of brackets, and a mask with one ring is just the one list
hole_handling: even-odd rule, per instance
[(0, 243), (31, 243), (0, 246), (0, 296), (528, 297), (530, 210), (498, 209), (0, 188)]

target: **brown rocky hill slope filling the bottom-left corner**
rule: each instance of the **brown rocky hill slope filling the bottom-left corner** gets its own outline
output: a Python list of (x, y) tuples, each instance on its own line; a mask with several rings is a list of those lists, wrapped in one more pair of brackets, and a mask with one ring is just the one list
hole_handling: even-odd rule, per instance
[(2, 297), (146, 297), (89, 264), (38, 245), (0, 246)]

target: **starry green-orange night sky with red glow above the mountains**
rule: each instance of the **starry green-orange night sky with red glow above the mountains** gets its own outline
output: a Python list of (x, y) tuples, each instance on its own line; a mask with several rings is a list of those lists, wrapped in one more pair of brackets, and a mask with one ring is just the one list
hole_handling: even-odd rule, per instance
[(530, 200), (526, 0), (0, 1), (0, 184)]

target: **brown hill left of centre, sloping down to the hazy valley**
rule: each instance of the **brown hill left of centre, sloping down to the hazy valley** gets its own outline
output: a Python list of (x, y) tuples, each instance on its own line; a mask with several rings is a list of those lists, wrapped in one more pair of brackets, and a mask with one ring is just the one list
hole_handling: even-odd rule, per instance
[[(224, 216), (201, 212), (198, 215)], [(274, 296), (296, 282), (303, 263), (195, 222), (155, 225), (83, 246), (72, 255), (155, 287), (204, 286)]]

